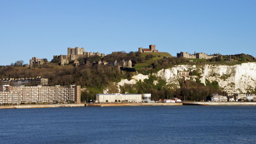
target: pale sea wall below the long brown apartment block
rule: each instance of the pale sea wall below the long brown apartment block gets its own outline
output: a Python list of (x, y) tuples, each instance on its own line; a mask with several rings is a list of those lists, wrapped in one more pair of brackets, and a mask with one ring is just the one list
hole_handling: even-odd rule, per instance
[(79, 107), (79, 106), (84, 106), (84, 104), (0, 106), (0, 109), (59, 108), (59, 107)]

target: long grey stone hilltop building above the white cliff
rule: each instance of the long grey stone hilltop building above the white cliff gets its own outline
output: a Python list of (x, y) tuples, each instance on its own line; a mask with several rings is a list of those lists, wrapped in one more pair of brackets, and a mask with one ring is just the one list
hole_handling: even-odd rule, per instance
[(217, 57), (219, 54), (205, 54), (203, 52), (200, 52), (200, 53), (194, 53), (194, 54), (189, 54), (187, 52), (180, 52), (180, 53), (177, 53), (177, 57), (184, 57), (184, 58), (197, 58), (197, 59), (210, 59), (210, 58), (214, 58), (214, 57)]

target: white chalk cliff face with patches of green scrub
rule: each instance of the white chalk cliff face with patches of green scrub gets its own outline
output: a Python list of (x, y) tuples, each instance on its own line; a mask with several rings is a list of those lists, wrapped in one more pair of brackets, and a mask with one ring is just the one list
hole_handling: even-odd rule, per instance
[[(179, 71), (193, 71), (196, 70), (201, 77), (191, 76), (192, 79), (198, 78), (201, 83), (205, 84), (205, 79), (210, 82), (216, 80), (219, 86), (227, 93), (246, 93), (247, 90), (254, 90), (256, 88), (256, 63), (243, 63), (237, 65), (177, 65), (169, 69), (162, 69), (155, 75), (166, 80), (167, 84), (171, 84), (173, 88), (179, 87)], [(117, 83), (119, 86), (124, 84), (135, 84), (138, 80), (148, 79), (148, 75), (138, 74), (133, 76), (131, 80), (121, 80)], [(157, 82), (156, 82), (157, 83)], [(119, 89), (120, 90), (120, 89)]]

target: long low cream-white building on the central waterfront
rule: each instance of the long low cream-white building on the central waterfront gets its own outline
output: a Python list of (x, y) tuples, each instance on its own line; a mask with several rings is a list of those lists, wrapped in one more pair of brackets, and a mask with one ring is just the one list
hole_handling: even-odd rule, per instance
[(142, 95), (120, 93), (96, 94), (96, 100), (98, 102), (142, 102)]

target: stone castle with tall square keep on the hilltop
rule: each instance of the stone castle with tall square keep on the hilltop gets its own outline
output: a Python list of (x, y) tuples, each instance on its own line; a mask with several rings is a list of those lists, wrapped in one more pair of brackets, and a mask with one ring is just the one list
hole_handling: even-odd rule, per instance
[(68, 64), (69, 61), (78, 60), (78, 58), (89, 58), (90, 56), (98, 55), (99, 57), (104, 57), (105, 54), (100, 54), (99, 52), (92, 53), (84, 51), (84, 48), (67, 48), (67, 55), (54, 55), (53, 58), (58, 58), (61, 61), (61, 65)]

